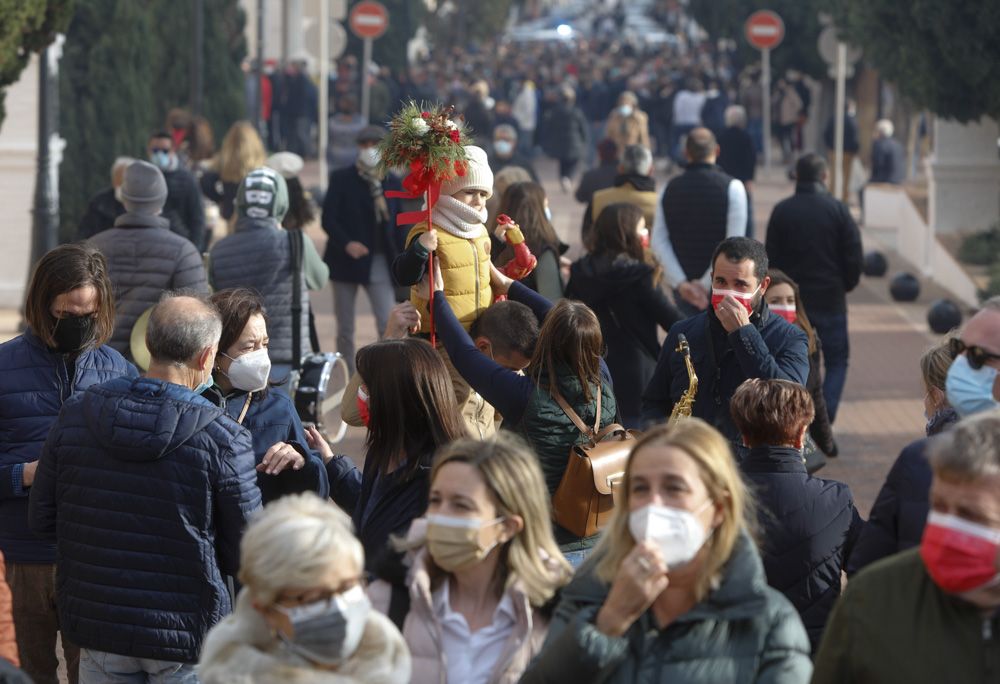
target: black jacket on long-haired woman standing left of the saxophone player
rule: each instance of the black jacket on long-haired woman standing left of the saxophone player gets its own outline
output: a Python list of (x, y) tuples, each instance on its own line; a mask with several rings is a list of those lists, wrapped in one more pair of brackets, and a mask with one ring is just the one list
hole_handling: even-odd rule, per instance
[(587, 255), (573, 264), (566, 287), (566, 296), (589, 306), (601, 322), (618, 410), (628, 428), (640, 426), (642, 392), (656, 370), (656, 327), (666, 331), (681, 319), (653, 275), (652, 266), (625, 254)]

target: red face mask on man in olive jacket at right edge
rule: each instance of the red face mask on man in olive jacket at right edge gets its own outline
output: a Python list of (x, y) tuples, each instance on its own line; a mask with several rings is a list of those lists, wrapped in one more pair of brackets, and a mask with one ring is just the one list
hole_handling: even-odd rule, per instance
[(920, 557), (934, 583), (948, 593), (981, 589), (1000, 577), (998, 552), (1000, 530), (936, 511), (927, 516)]

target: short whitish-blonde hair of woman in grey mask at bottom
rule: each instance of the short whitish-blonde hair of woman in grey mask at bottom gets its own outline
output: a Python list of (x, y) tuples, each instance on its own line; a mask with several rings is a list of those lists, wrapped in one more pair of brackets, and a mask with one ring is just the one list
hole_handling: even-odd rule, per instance
[(294, 494), (269, 503), (247, 527), (239, 580), (270, 605), (285, 589), (318, 585), (331, 566), (348, 560), (360, 573), (364, 550), (350, 517), (312, 492)]

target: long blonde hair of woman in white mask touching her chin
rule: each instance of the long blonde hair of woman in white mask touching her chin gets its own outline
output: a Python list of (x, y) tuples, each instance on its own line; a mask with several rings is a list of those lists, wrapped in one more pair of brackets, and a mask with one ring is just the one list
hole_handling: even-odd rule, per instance
[(597, 558), (597, 576), (611, 583), (625, 556), (635, 547), (629, 531), (629, 497), (631, 491), (632, 463), (643, 449), (673, 447), (687, 454), (698, 466), (708, 496), (722, 510), (722, 522), (712, 532), (708, 541), (708, 555), (695, 595), (702, 600), (715, 584), (723, 566), (729, 561), (740, 534), (753, 534), (753, 499), (743, 484), (729, 442), (719, 432), (699, 418), (686, 418), (674, 425), (659, 425), (643, 435), (632, 447), (625, 466), (622, 500), (615, 505), (594, 550)]

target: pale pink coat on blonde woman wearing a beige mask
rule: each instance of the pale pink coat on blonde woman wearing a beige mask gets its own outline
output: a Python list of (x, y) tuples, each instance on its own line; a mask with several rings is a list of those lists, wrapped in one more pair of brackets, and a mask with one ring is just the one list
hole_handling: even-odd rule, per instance
[[(422, 524), (414, 525), (423, 529)], [(411, 529), (410, 538), (414, 536)], [(410, 588), (410, 612), (403, 623), (403, 638), (413, 657), (413, 684), (446, 684), (448, 669), (444, 661), (441, 623), (434, 612), (431, 598), (430, 575), (426, 569), (426, 552), (411, 556), (413, 565), (407, 576)], [(514, 605), (516, 623), (500, 656), (497, 669), (490, 677), (490, 684), (515, 684), (527, 669), (531, 659), (541, 650), (549, 621), (528, 602), (528, 597), (515, 583), (507, 590)], [(373, 583), (368, 589), (372, 605), (388, 612), (391, 588), (383, 581)], [(460, 684), (450, 682), (447, 684)]]

